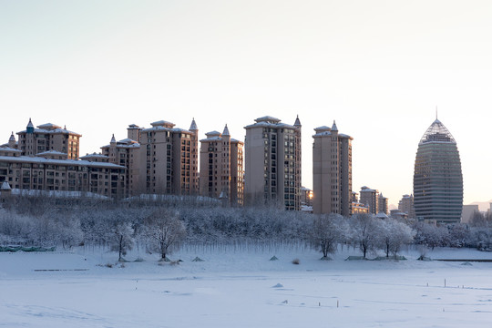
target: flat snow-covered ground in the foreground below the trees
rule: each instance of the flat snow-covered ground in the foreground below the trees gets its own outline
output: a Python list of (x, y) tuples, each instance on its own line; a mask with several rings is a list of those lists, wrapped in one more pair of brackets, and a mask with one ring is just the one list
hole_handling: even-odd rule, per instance
[[(279, 261), (269, 261), (275, 255)], [(333, 261), (302, 247), (0, 253), (5, 327), (488, 327), (492, 263)], [(205, 261), (191, 261), (199, 256)], [(431, 258), (492, 259), (474, 250)], [(138, 257), (144, 261), (134, 261)], [(300, 264), (292, 264), (293, 259)], [(57, 271), (54, 271), (57, 270)]]

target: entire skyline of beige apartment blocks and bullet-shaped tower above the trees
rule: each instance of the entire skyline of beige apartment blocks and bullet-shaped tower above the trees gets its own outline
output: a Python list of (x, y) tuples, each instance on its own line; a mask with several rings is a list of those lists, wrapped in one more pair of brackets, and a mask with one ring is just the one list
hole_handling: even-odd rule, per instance
[(48, 123), (12, 133), (0, 146), (2, 190), (58, 190), (123, 199), (143, 194), (200, 195), (229, 206), (276, 204), (315, 214), (387, 215), (435, 222), (459, 221), (463, 178), (456, 141), (436, 120), (419, 143), (414, 194), (398, 210), (378, 190), (352, 187), (352, 140), (331, 128), (314, 128), (313, 190), (302, 187), (302, 125), (257, 118), (244, 142), (227, 125), (198, 138), (190, 128), (160, 120), (131, 124), (127, 138), (114, 135), (101, 152), (79, 156), (82, 135)]

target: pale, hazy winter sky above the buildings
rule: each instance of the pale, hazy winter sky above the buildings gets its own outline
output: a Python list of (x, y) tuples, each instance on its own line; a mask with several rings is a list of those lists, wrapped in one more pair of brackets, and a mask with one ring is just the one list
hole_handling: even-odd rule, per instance
[[(99, 152), (164, 119), (232, 138), (272, 116), (353, 140), (353, 190), (397, 205), (436, 119), (457, 142), (464, 203), (492, 199), (488, 0), (0, 0), (0, 143), (54, 123)], [(1, 138), (4, 141), (1, 141)]]

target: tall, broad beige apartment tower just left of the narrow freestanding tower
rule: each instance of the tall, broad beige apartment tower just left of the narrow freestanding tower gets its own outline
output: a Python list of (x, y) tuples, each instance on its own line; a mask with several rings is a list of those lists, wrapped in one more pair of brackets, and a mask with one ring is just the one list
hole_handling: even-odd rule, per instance
[(278, 118), (255, 119), (246, 129), (246, 204), (278, 204), (301, 210), (301, 122)]

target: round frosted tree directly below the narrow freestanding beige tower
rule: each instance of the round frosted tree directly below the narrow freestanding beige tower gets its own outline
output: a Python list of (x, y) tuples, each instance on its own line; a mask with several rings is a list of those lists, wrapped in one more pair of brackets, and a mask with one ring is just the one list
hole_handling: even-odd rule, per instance
[(323, 259), (336, 251), (338, 242), (344, 240), (347, 227), (343, 216), (339, 214), (317, 215), (313, 226), (308, 232), (312, 246), (323, 253)]

